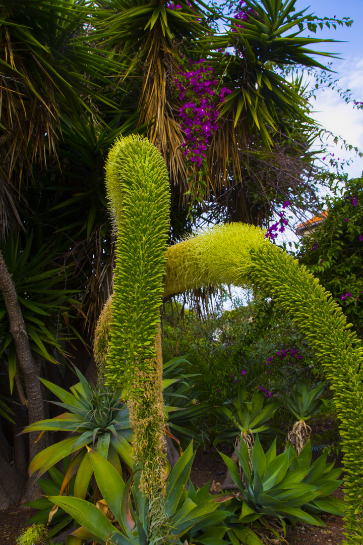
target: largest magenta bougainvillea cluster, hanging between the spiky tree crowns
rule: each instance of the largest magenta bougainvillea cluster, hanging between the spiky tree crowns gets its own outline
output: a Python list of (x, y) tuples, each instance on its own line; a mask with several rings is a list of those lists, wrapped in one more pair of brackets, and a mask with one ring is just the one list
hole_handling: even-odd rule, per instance
[(200, 167), (206, 158), (208, 139), (218, 129), (217, 104), (223, 102), (231, 91), (224, 87), (218, 95), (218, 81), (205, 59), (194, 63), (189, 59), (189, 70), (180, 72), (174, 80), (177, 94), (180, 100), (184, 100), (179, 110), (181, 128), (186, 134), (183, 155)]

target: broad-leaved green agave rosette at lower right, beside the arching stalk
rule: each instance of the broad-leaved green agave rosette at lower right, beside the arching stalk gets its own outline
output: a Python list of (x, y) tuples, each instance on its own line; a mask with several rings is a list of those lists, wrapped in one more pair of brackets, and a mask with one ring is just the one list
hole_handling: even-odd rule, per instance
[(284, 519), (294, 525), (300, 521), (324, 526), (317, 517), (318, 513), (343, 515), (344, 502), (329, 497), (342, 482), (337, 480), (342, 470), (334, 470), (334, 463), (327, 465), (326, 453), (310, 465), (309, 441), (299, 456), (291, 444), (285, 452), (276, 456), (276, 440), (265, 454), (257, 435), (251, 456), (252, 468), (248, 447), (242, 441), (237, 456), (243, 478), (235, 462), (224, 454), (221, 456), (241, 493), (233, 500), (235, 505), (232, 506), (238, 514), (239, 523), (259, 520), (267, 526), (265, 517), (274, 517), (280, 520), (285, 531)]

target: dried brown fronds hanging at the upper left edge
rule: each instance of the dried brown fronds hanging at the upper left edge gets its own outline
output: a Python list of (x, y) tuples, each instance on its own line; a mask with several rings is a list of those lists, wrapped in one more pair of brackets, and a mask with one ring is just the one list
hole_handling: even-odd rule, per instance
[(38, 156), (40, 164), (46, 164), (47, 148), (55, 153), (59, 137), (56, 86), (35, 57), (39, 70), (36, 74), (29, 70), (22, 44), (11, 43), (6, 26), (3, 27), (0, 51), (0, 122), (4, 130), (1, 163), (9, 178), (17, 168), (20, 184), (23, 166), (30, 169)]

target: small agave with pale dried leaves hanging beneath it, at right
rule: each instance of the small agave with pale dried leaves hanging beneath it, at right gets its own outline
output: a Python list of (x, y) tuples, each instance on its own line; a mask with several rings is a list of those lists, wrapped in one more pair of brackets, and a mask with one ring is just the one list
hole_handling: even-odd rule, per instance
[(292, 390), (290, 396), (280, 392), (285, 399), (287, 409), (298, 419), (288, 433), (286, 442), (291, 441), (299, 454), (306, 440), (310, 438), (311, 427), (306, 424), (312, 416), (317, 414), (325, 399), (319, 399), (325, 389), (325, 384), (309, 389), (305, 380), (300, 382), (297, 390)]

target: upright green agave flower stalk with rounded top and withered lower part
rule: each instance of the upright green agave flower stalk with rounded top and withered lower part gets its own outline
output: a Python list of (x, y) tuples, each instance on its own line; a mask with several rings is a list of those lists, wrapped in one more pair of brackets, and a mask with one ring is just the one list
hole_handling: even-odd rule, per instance
[(170, 189), (162, 155), (147, 139), (116, 140), (106, 164), (116, 243), (106, 384), (121, 387), (134, 432), (134, 469), (149, 503), (150, 535), (165, 519), (163, 362), (159, 332)]

